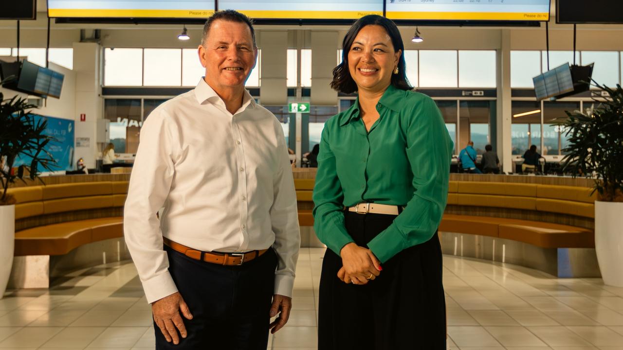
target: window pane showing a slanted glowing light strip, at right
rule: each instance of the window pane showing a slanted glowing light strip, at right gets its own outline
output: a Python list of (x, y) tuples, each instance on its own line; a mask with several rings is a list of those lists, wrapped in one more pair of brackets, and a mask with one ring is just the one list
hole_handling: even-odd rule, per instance
[[(531, 144), (541, 144), (541, 103), (513, 101), (511, 114), (511, 154), (521, 156)], [(538, 132), (531, 135), (531, 129)]]

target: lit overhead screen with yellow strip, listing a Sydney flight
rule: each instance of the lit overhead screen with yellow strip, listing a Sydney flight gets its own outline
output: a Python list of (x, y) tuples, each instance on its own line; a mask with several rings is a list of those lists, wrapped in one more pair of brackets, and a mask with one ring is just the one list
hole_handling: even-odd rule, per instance
[(549, 0), (385, 0), (389, 19), (549, 21)]

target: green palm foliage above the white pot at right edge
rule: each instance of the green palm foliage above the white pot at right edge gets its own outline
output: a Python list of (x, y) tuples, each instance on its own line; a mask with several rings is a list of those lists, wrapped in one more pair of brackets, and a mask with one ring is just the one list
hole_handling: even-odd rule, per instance
[(569, 142), (562, 167), (574, 177), (594, 174), (600, 201), (623, 202), (623, 89), (595, 86), (608, 98), (594, 99), (599, 105), (592, 110), (566, 111), (554, 120)]

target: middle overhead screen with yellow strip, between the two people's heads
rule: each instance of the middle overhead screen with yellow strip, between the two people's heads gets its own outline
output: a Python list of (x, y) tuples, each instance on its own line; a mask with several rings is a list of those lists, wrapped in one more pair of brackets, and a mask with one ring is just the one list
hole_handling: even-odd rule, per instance
[(219, 10), (232, 9), (257, 19), (358, 19), (383, 16), (383, 0), (219, 0)]

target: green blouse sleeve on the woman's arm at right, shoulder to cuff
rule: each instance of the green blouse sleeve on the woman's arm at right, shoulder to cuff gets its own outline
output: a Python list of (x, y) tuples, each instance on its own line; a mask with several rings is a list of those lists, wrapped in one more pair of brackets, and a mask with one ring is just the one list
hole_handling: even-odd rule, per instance
[(447, 202), (452, 140), (444, 119), (428, 97), (414, 106), (412, 115), (406, 125), (406, 153), (415, 192), (394, 222), (368, 243), (381, 262), (429, 240)]

